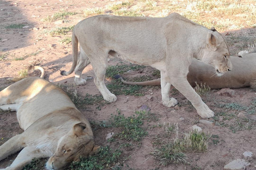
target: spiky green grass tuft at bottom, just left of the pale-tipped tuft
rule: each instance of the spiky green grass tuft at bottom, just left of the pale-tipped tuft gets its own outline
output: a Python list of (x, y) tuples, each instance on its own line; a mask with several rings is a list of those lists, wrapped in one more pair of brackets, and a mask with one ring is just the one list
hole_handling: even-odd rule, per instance
[(173, 143), (164, 144), (160, 148), (155, 148), (150, 154), (160, 161), (159, 164), (164, 166), (170, 163), (188, 163), (186, 161), (186, 155), (176, 151), (175, 144)]

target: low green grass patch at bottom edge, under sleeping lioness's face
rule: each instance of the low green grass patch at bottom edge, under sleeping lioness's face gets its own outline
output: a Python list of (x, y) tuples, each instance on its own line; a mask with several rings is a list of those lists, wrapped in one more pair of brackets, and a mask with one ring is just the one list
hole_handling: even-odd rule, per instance
[(122, 151), (120, 149), (112, 150), (109, 146), (101, 147), (96, 155), (89, 158), (80, 157), (80, 162), (73, 162), (69, 170), (118, 170), (123, 166)]

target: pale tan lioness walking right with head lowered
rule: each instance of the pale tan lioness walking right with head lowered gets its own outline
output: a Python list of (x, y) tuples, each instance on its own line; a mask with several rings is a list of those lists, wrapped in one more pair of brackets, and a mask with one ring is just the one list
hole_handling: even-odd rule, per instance
[[(78, 42), (81, 54), (77, 62)], [(178, 103), (169, 98), (172, 84), (203, 118), (211, 118), (214, 113), (187, 81), (192, 58), (211, 64), (217, 75), (232, 70), (224, 37), (214, 28), (209, 30), (177, 13), (164, 18), (98, 15), (84, 19), (74, 27), (72, 49), (72, 67), (61, 74), (69, 75), (75, 70), (75, 82), (83, 85), (86, 81), (81, 78), (82, 71), (91, 62), (94, 83), (108, 102), (117, 99), (104, 83), (109, 54), (160, 70), (163, 105), (172, 107)]]

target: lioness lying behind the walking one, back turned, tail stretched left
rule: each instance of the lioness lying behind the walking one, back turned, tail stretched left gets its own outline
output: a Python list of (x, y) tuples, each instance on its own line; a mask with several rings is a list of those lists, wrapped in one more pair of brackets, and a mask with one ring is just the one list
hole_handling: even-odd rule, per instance
[[(195, 87), (195, 82), (198, 84), (205, 83), (211, 89), (226, 87), (242, 88), (248, 86), (252, 89), (256, 89), (256, 52), (244, 54), (242, 58), (236, 56), (230, 56), (230, 58), (232, 59), (233, 69), (223, 76), (215, 76), (215, 71), (212, 66), (193, 58), (187, 75), (189, 84)], [(127, 82), (124, 81), (120, 75), (116, 75), (115, 78), (121, 79), (122, 83), (128, 85), (161, 85), (160, 78), (143, 82)]]

